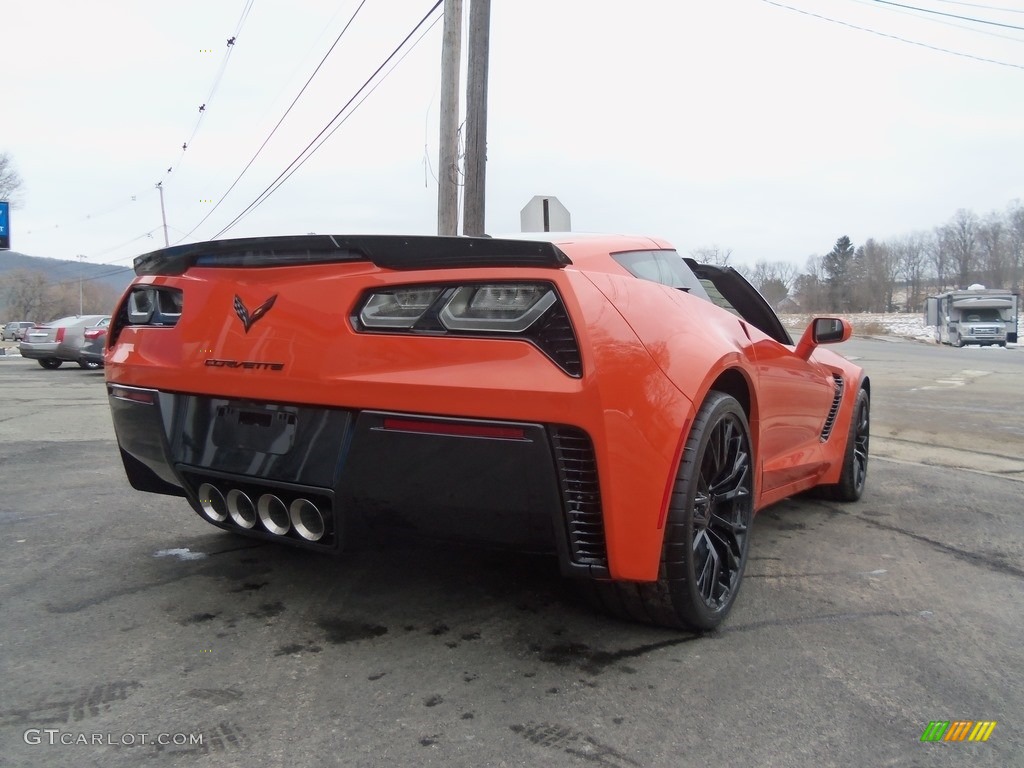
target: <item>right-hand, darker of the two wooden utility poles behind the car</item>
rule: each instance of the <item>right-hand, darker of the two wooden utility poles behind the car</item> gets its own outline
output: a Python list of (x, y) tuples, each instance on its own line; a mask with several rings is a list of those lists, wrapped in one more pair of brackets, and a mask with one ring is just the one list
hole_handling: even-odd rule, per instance
[(466, 86), (466, 193), (463, 234), (481, 236), (487, 165), (487, 59), (490, 0), (470, 0)]

